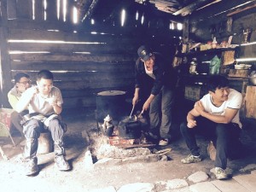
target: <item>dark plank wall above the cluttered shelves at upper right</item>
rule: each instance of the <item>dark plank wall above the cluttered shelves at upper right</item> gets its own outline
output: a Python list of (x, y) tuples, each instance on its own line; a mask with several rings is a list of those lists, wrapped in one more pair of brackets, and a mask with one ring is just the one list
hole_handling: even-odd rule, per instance
[[(252, 3), (250, 3), (252, 2)], [(245, 3), (245, 4), (244, 4)], [(236, 7), (237, 4), (244, 4)], [(216, 37), (218, 43), (228, 41), (233, 36), (231, 44), (241, 44), (243, 30), (253, 30), (251, 41), (256, 40), (256, 5), (253, 1), (221, 1), (208, 8), (195, 11), (189, 15), (189, 39), (207, 43)]]

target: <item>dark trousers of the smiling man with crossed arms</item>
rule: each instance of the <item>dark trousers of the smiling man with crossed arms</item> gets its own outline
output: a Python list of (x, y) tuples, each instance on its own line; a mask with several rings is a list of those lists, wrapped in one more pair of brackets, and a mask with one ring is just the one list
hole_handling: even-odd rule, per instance
[(214, 165), (225, 169), (227, 167), (227, 157), (229, 149), (236, 148), (239, 141), (241, 129), (237, 124), (217, 124), (211, 120), (199, 117), (196, 119), (197, 125), (194, 128), (189, 128), (187, 122), (180, 126), (183, 138), (191, 152), (197, 156), (200, 155), (200, 150), (197, 146), (195, 135), (200, 134), (212, 141), (216, 148), (216, 160)]

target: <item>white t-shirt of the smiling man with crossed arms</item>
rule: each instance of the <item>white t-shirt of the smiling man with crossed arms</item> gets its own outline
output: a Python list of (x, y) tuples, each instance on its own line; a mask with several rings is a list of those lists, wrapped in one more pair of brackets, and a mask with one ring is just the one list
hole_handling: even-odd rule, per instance
[[(218, 114), (218, 115), (224, 115), (226, 108), (234, 108), (234, 109), (240, 109), (242, 104), (242, 96), (241, 93), (230, 89), (230, 94), (228, 96), (228, 100), (222, 103), (221, 106), (216, 107), (212, 104), (212, 96), (210, 94), (207, 94), (201, 98), (201, 102), (207, 111), (207, 113), (212, 114)], [(231, 120), (232, 123), (236, 123), (241, 128), (241, 122), (239, 118), (239, 111), (236, 113), (236, 116)]]

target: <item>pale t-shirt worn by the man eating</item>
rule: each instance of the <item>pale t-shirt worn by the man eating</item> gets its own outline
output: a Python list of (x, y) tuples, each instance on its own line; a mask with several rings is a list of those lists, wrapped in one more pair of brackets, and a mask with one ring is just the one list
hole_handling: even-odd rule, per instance
[[(26, 95), (26, 91), (23, 93), (23, 95)], [(32, 100), (29, 102), (29, 105), (28, 105), (29, 113), (41, 113), (46, 116), (52, 113), (55, 113), (53, 107), (49, 105), (49, 102), (47, 102), (47, 99), (52, 97), (56, 98), (57, 105), (61, 107), (63, 103), (61, 90), (59, 90), (59, 88), (57, 87), (52, 87), (47, 98), (41, 96), (39, 93), (35, 94), (32, 97)]]

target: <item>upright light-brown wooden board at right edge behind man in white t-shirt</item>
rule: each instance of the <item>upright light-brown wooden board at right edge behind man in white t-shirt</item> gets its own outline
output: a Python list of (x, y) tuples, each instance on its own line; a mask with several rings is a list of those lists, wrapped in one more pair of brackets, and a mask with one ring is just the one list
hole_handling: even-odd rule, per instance
[(246, 92), (246, 117), (256, 119), (256, 86), (247, 86)]

